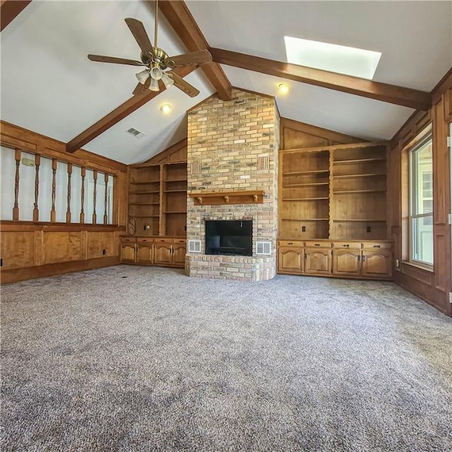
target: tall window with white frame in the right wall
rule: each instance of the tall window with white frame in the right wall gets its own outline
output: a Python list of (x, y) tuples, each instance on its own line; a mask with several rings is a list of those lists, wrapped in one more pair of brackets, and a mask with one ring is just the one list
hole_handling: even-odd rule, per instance
[(410, 150), (410, 260), (433, 265), (432, 136)]

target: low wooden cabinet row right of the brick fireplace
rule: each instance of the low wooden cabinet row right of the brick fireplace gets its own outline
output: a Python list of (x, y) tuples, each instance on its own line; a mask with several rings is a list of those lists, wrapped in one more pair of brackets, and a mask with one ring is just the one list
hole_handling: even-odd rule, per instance
[(391, 242), (279, 240), (278, 273), (390, 280), (391, 247)]

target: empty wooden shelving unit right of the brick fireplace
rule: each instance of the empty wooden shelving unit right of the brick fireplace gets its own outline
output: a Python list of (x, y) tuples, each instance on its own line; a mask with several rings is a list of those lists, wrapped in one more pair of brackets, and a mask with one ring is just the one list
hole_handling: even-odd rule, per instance
[(279, 237), (387, 239), (386, 144), (280, 151)]

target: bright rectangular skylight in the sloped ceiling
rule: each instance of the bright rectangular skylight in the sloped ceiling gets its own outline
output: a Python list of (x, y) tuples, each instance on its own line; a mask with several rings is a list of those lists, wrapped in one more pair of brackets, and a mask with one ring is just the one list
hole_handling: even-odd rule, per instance
[(287, 62), (347, 76), (374, 78), (381, 52), (285, 36)]

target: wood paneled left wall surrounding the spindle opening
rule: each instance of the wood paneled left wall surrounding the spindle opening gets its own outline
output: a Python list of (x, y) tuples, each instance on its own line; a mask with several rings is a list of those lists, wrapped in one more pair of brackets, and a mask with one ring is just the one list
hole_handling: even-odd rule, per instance
[(127, 166), (0, 121), (1, 145), (114, 174), (114, 225), (2, 221), (1, 283), (58, 275), (119, 263), (119, 235), (126, 230)]

